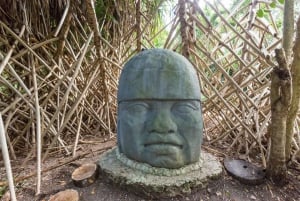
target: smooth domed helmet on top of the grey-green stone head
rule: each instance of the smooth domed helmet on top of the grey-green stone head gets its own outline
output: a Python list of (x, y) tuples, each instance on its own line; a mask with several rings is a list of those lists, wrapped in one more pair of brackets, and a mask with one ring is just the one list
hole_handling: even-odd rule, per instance
[(124, 66), (118, 103), (138, 99), (200, 100), (200, 85), (193, 65), (182, 55), (166, 49), (149, 49)]

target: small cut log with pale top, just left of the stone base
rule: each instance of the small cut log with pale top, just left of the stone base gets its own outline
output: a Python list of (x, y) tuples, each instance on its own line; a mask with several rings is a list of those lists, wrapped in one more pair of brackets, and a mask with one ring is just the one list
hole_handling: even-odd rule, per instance
[(72, 180), (77, 187), (86, 187), (98, 177), (98, 166), (94, 163), (83, 164), (72, 173)]

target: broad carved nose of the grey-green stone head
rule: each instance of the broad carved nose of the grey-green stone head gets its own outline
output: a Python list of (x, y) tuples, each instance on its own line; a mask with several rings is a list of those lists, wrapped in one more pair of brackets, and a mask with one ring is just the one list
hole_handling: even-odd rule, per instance
[(149, 119), (148, 130), (150, 133), (175, 133), (177, 131), (177, 125), (173, 121), (170, 111), (159, 109)]

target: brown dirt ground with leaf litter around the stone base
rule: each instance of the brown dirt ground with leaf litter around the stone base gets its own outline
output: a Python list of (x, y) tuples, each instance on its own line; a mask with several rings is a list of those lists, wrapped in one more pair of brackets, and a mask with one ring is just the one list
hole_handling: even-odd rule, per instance
[[(44, 172), (42, 175), (41, 194), (35, 196), (35, 177), (30, 177), (16, 184), (17, 199), (22, 201), (43, 200), (47, 201), (49, 197), (59, 191), (65, 189), (75, 189), (79, 192), (81, 201), (142, 201), (155, 200), (145, 198), (141, 195), (135, 195), (132, 192), (127, 192), (109, 183), (105, 183), (100, 178), (92, 185), (84, 188), (75, 187), (72, 180), (72, 172), (81, 164), (97, 162), (100, 153), (115, 145), (115, 140), (100, 144), (82, 145), (82, 149), (78, 152), (78, 158), (72, 160), (72, 157), (52, 156), (43, 164), (43, 170), (51, 167), (56, 167), (58, 164), (63, 164), (53, 170)], [(207, 150), (209, 152), (209, 150)], [(213, 154), (213, 153), (212, 153)], [(223, 160), (219, 157), (220, 161)], [(23, 161), (23, 160), (22, 160)], [(5, 169), (3, 162), (0, 161), (0, 180), (5, 178)], [(35, 171), (35, 160), (29, 161), (25, 167), (21, 166), (20, 162), (12, 163), (14, 176), (22, 178), (31, 175)], [(219, 180), (211, 181), (206, 188), (195, 189), (190, 195), (182, 195), (175, 198), (160, 199), (173, 201), (300, 201), (300, 170), (299, 167), (289, 169), (289, 183), (285, 186), (274, 186), (271, 182), (266, 181), (261, 185), (250, 186), (240, 183), (233, 179), (224, 170)], [(0, 186), (1, 187), (1, 186)], [(6, 201), (5, 196), (1, 201)]]

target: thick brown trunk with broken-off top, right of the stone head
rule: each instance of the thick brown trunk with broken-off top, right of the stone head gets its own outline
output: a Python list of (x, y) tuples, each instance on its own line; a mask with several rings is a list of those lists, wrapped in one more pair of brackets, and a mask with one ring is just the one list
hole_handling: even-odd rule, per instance
[(285, 134), (286, 120), (291, 100), (291, 75), (283, 49), (275, 50), (278, 66), (271, 77), (271, 149), (267, 176), (276, 184), (285, 182)]

